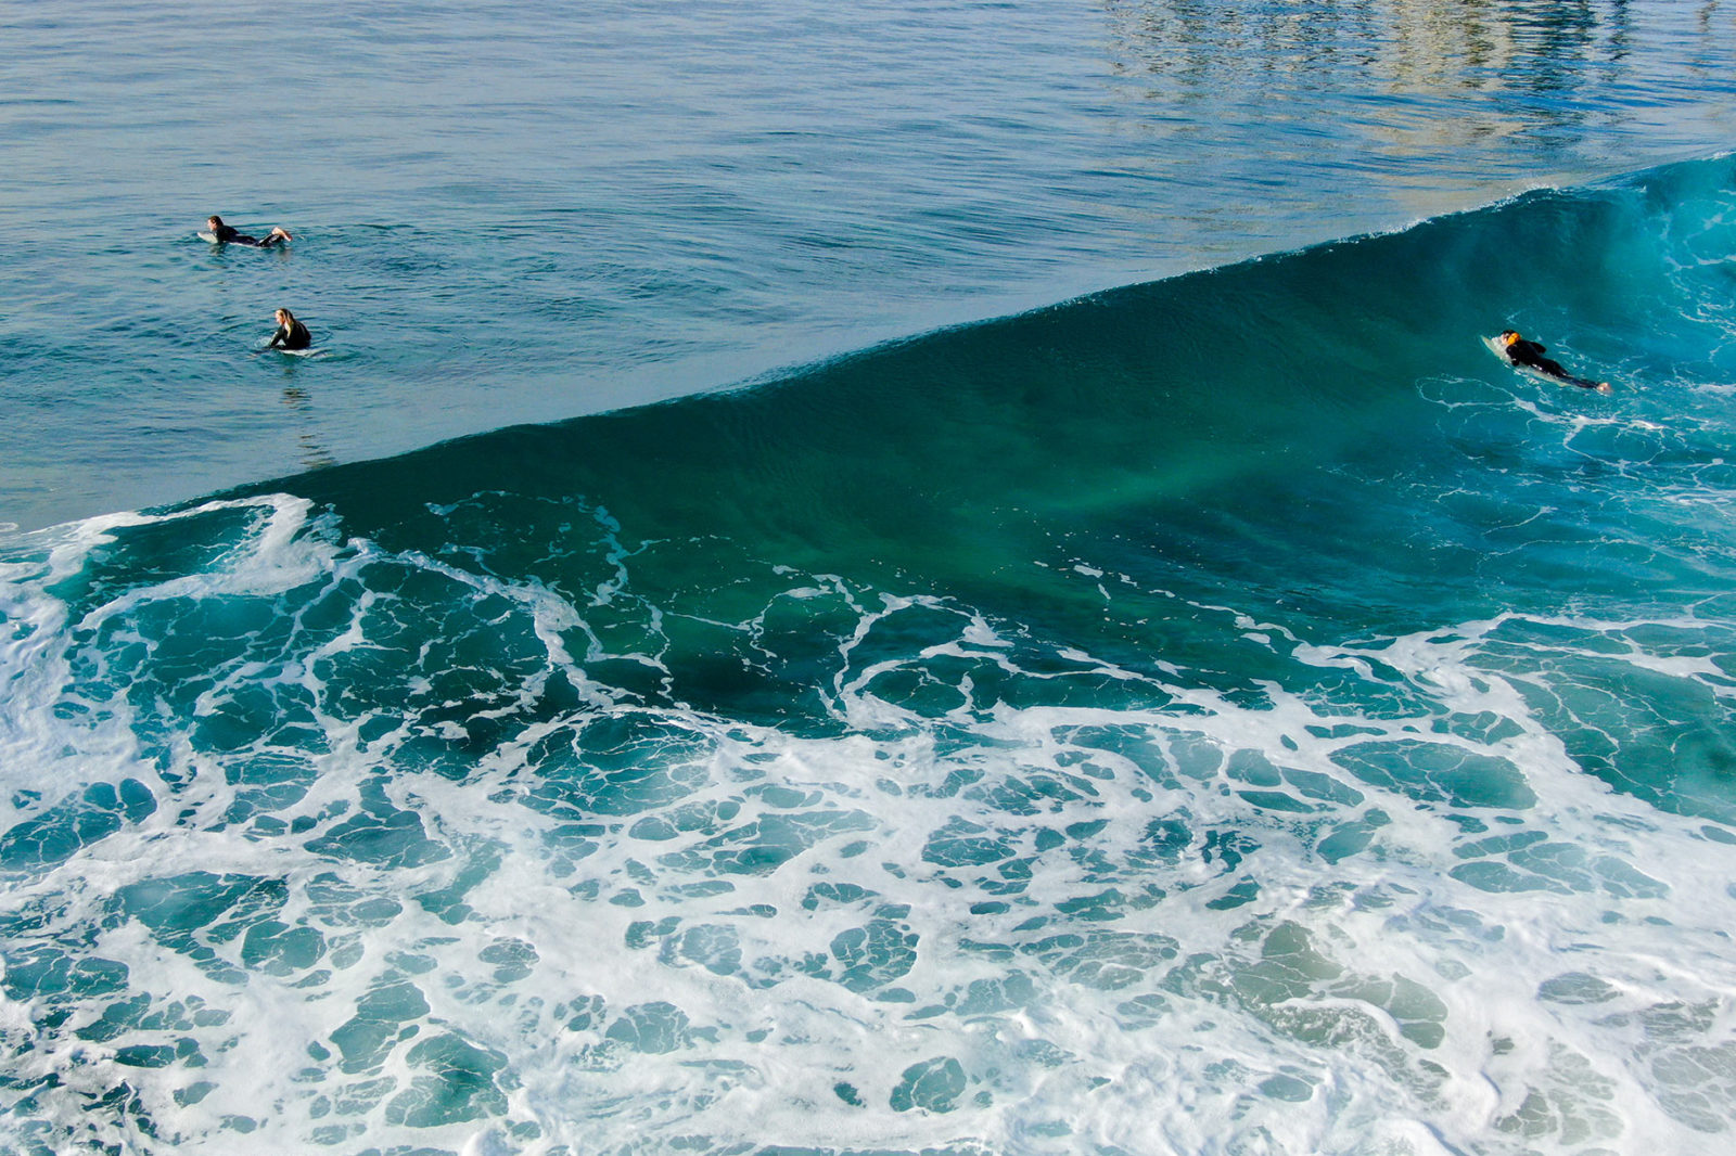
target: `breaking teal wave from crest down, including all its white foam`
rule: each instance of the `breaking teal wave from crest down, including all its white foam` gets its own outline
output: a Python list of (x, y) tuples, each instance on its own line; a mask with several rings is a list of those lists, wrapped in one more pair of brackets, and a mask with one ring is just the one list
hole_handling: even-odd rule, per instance
[(1733, 252), (1693, 161), (12, 535), (0, 1128), (1715, 1146)]

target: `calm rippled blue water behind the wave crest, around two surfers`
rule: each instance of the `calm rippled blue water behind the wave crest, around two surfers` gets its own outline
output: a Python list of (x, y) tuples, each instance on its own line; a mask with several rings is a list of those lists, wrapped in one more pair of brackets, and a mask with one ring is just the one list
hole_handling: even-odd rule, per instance
[[(0, 7), (0, 521), (1722, 151), (1720, 5)], [(290, 253), (212, 252), (210, 213)], [(286, 305), (328, 352), (253, 356)]]

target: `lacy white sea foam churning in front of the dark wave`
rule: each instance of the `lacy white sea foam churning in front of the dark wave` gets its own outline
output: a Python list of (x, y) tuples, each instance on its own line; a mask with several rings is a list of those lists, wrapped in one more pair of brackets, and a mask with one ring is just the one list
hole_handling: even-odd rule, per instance
[[(1503, 614), (1342, 644), (1194, 608), (1295, 660), (1248, 696), (792, 575), (781, 597), (858, 614), (835, 727), (804, 736), (594, 682), (571, 639), (597, 663), (604, 634), (547, 587), (339, 543), (288, 502), (248, 510), (220, 564), (85, 613), (52, 592), (82, 568), (64, 543), (9, 575), (28, 625), (3, 760), (26, 764), (14, 790), (56, 769), (12, 830), (125, 816), (9, 871), (0, 1043), (7, 1100), (35, 1097), (9, 1126), (184, 1153), (687, 1135), (1189, 1154), (1689, 1151), (1722, 1126), (1736, 849), (1588, 774), (1536, 706), (1580, 663), (1727, 693), (1706, 654), (1644, 642), (1693, 620)], [(424, 578), (437, 601), (403, 613)], [(293, 746), (278, 724), (141, 746), (156, 708), (120, 684), (56, 712), (83, 693), (69, 656), (141, 646), (102, 634), (118, 608), (226, 599), (293, 606), (302, 634), (222, 651), (193, 715), (279, 694)], [(488, 703), (431, 715), (429, 667), (396, 706), (347, 705), (366, 687), (340, 665), (382, 623), (450, 630), (472, 608), (465, 630), (535, 651), (483, 680)], [(417, 663), (432, 644), (392, 646)], [(543, 710), (557, 672), (589, 691)], [(911, 679), (953, 706), (889, 696)], [(981, 696), (995, 679), (1033, 701)], [(1104, 679), (1135, 698), (1066, 705)], [(464, 745), (477, 719), (514, 727), (424, 765), (427, 736)], [(56, 745), (76, 755), (45, 764)], [(306, 764), (292, 791), (257, 795), (267, 757)], [(149, 814), (83, 795), (127, 779)], [(61, 995), (31, 970), (56, 953), (111, 982)], [(137, 1111), (92, 1114), (116, 1088)]]

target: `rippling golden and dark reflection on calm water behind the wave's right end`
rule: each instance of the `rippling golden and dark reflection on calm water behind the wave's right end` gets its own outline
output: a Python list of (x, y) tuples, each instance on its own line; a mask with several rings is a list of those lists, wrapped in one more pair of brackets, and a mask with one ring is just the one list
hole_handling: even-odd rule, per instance
[(1146, 106), (1141, 130), (1220, 142), (1205, 165), (1191, 148), (1153, 149), (1151, 168), (1279, 201), (1318, 198), (1337, 170), (1410, 191), (1425, 213), (1455, 182), (1583, 174), (1613, 137), (1668, 156), (1729, 139), (1736, 85), (1719, 62), (1736, 56), (1736, 21), (1722, 7), (1106, 0), (1104, 12), (1113, 75)]

